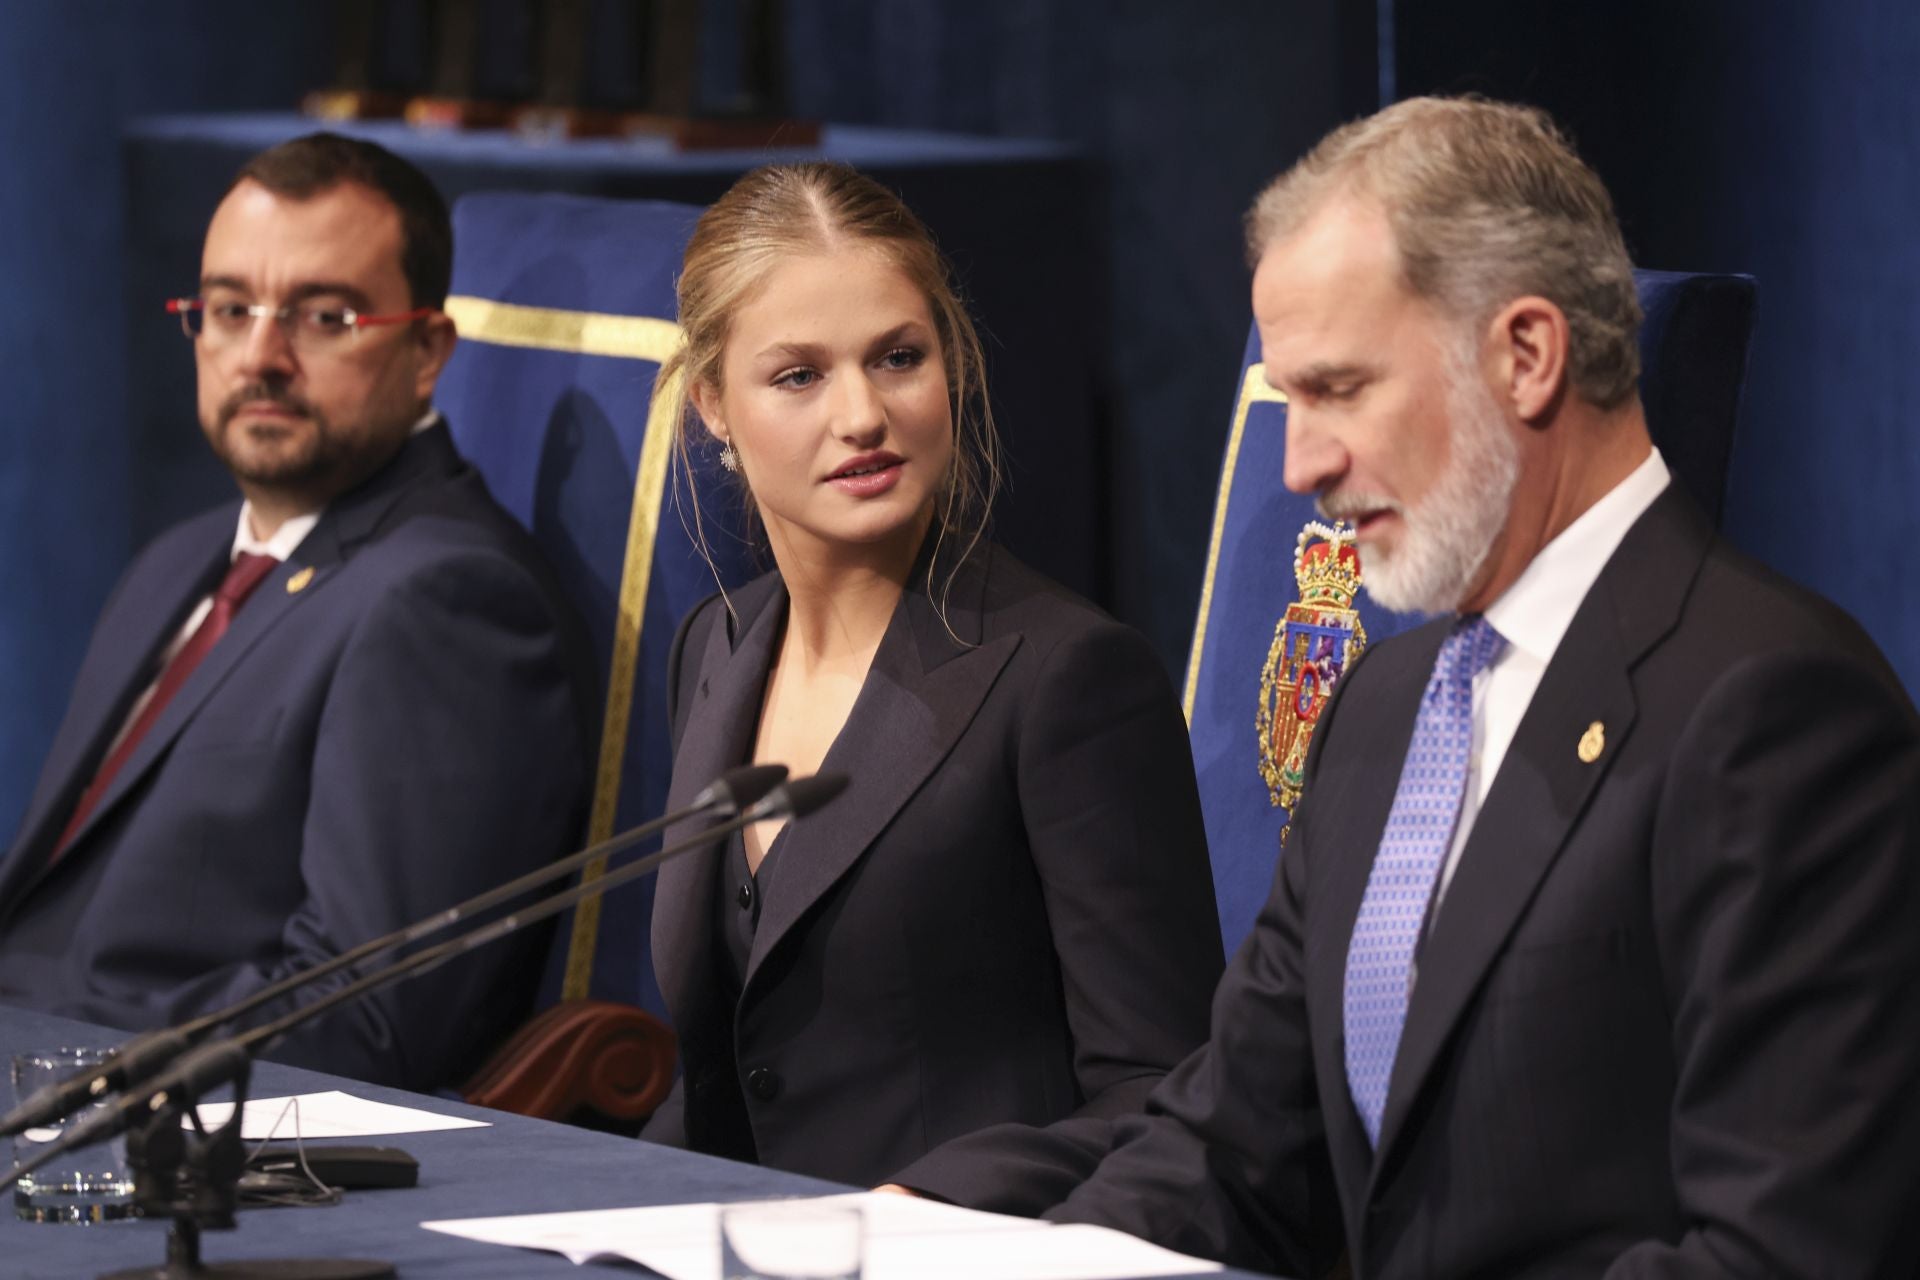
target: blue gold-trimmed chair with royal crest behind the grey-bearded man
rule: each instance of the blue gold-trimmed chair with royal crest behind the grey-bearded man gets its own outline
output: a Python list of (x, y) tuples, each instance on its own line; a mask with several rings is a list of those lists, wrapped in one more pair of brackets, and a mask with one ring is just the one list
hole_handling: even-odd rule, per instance
[[(1676, 482), (1718, 522), (1753, 334), (1753, 278), (1634, 274), (1645, 311), (1640, 395), (1647, 426)], [(1254, 332), (1240, 361), (1183, 689), (1229, 952), (1252, 929), (1281, 850), (1283, 800), (1292, 798), (1288, 756), (1298, 768), (1304, 747), (1286, 741), (1288, 704), (1309, 704), (1313, 683), (1336, 676), (1344, 643), (1342, 568), (1327, 557), (1309, 557), (1296, 580), (1296, 539), (1315, 516), (1311, 499), (1281, 484), (1284, 436), (1286, 403), (1265, 384)], [(1288, 629), (1288, 604), (1302, 597), (1302, 583), (1309, 606), (1294, 610)], [(1419, 622), (1390, 614), (1365, 595), (1357, 616), (1373, 643)], [(1288, 649), (1296, 651), (1292, 664), (1284, 662)], [(1288, 666), (1300, 670), (1300, 654), (1317, 672), (1288, 679)]]

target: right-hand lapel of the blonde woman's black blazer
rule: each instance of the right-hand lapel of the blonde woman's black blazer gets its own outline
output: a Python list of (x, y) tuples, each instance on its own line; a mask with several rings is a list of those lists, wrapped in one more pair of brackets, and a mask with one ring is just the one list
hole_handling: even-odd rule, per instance
[[(795, 923), (839, 881), (947, 758), (973, 722), (1018, 635), (979, 643), (991, 551), (979, 551), (947, 593), (947, 622), (916, 580), (900, 595), (874, 666), (822, 770), (847, 773), (847, 791), (793, 823), (780, 850), (747, 958), (747, 988)], [(952, 631), (948, 633), (948, 624)]]

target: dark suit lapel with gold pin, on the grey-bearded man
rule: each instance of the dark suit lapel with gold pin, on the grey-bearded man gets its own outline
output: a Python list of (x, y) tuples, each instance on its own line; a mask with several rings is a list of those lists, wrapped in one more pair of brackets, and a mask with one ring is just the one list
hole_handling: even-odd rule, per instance
[[(1628, 530), (1567, 628), (1421, 952), (1375, 1171), (1386, 1167), (1442, 1044), (1626, 745), (1638, 714), (1632, 666), (1672, 631), (1709, 541), (1692, 501), (1668, 487)], [(1605, 725), (1605, 748), (1582, 762), (1576, 747), (1596, 722)]]

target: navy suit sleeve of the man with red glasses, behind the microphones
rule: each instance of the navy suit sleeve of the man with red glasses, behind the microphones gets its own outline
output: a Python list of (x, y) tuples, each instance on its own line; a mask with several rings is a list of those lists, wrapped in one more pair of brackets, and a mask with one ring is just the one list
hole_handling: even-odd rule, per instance
[[(288, 902), (282, 954), (142, 996), (138, 1013), (106, 996), (75, 1013), (154, 1025), (217, 1009), (564, 852), (588, 777), (582, 658), (505, 557), (442, 557), (386, 583), (324, 689), (298, 850), (305, 896)], [(501, 990), (532, 994), (528, 960), (528, 942), (482, 948), (282, 1044), (324, 1071), (438, 1084), (520, 1013)]]

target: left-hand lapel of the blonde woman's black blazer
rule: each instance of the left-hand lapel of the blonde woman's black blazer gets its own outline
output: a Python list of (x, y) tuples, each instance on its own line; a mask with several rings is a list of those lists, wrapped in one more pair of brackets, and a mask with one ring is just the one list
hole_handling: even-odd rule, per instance
[[(733, 593), (735, 618), (722, 618), (708, 629), (697, 660), (693, 702), (680, 710), (685, 735), (674, 752), (674, 787), (666, 798), (668, 810), (685, 806), (720, 773), (745, 764), (753, 756), (755, 731), (760, 723), (760, 702), (766, 697), (766, 674), (774, 662), (787, 616), (787, 591), (778, 574), (768, 574)], [(699, 833), (707, 819), (674, 823), (662, 837), (666, 844)], [(791, 839), (791, 837), (787, 837)], [(712, 946), (712, 896), (720, 877), (722, 844), (674, 858), (660, 867), (655, 885), (653, 912), (653, 969), (684, 1025), (695, 1025), (689, 1015), (708, 990), (708, 967), (699, 958)]]

